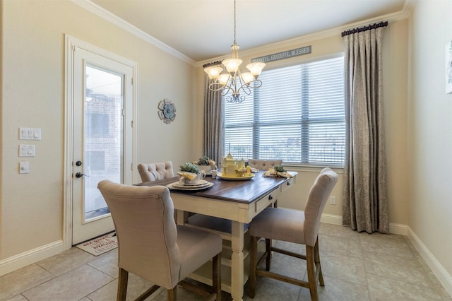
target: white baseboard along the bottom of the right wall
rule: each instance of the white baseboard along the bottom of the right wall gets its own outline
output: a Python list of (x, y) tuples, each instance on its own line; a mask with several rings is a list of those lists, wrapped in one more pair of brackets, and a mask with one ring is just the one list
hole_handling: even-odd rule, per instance
[(417, 237), (416, 233), (408, 227), (408, 239), (415, 246), (417, 252), (422, 256), (427, 265), (432, 269), (436, 278), (441, 282), (447, 293), (452, 296), (452, 276), (446, 269), (436, 260), (435, 256), (429, 251), (425, 244)]

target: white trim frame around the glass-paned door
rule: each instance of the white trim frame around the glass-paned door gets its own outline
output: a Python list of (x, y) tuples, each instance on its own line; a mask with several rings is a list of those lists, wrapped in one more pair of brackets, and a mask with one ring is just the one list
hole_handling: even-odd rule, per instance
[[(121, 64), (130, 66), (133, 71), (133, 96), (132, 96), (132, 150), (131, 150), (131, 183), (136, 182), (136, 158), (138, 155), (137, 133), (138, 126), (136, 122), (138, 103), (137, 103), (137, 64), (134, 61), (120, 57), (117, 54), (108, 52), (87, 42), (78, 40), (76, 37), (65, 35), (65, 76), (64, 76), (64, 213), (63, 213), (63, 245), (64, 249), (71, 249), (72, 247), (72, 223), (73, 223), (73, 105), (74, 105), (74, 91), (73, 91), (73, 49), (80, 47), (95, 54), (102, 55)], [(126, 165), (125, 165), (126, 166)]]

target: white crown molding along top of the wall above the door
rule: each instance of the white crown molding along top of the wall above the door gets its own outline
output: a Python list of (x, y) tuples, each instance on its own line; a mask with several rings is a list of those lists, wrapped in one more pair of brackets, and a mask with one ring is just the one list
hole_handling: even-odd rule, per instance
[(97, 16), (100, 16), (100, 18), (103, 18), (110, 23), (113, 23), (114, 25), (117, 25), (119, 28), (122, 28), (129, 33), (132, 33), (133, 35), (136, 35), (137, 37), (141, 38), (145, 42), (148, 42), (151, 45), (154, 45), (155, 47), (163, 50), (164, 52), (167, 52), (168, 54), (171, 54), (173, 57), (177, 57), (177, 59), (181, 59), (182, 61), (185, 61), (188, 64), (191, 64), (193, 66), (196, 65), (196, 61), (193, 59), (190, 59), (186, 55), (182, 54), (181, 52), (178, 52), (176, 49), (169, 47), (165, 43), (161, 42), (160, 40), (155, 39), (155, 37), (148, 35), (148, 33), (145, 33), (143, 30), (136, 28), (135, 26), (131, 25), (130, 23), (126, 22), (125, 20), (122, 20), (118, 16), (114, 15), (113, 13), (110, 13), (109, 11), (105, 10), (104, 8), (98, 6), (97, 4), (93, 3), (93, 1), (90, 0), (71, 0), (74, 4), (77, 4), (78, 6), (81, 6), (85, 8), (87, 11), (90, 11), (91, 13), (94, 13)]

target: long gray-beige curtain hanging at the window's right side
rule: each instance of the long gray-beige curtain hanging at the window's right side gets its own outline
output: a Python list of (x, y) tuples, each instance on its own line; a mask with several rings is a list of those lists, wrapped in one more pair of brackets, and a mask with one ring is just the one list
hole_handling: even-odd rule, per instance
[(383, 28), (345, 35), (343, 224), (389, 232), (383, 131)]

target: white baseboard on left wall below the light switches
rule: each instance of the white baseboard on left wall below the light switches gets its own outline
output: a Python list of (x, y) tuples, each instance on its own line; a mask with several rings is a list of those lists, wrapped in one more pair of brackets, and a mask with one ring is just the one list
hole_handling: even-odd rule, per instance
[(23, 268), (29, 264), (34, 264), (37, 261), (46, 259), (50, 256), (54, 256), (64, 251), (64, 245), (62, 240), (46, 244), (42, 247), (32, 249), (28, 252), (23, 252), (16, 256), (9, 257), (0, 261), (0, 276), (3, 276), (12, 271), (16, 271), (18, 268)]

